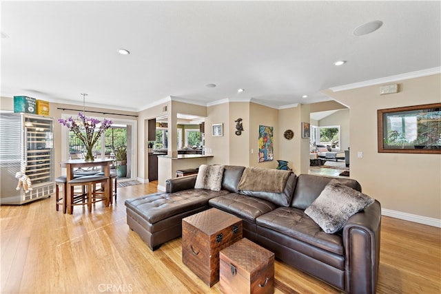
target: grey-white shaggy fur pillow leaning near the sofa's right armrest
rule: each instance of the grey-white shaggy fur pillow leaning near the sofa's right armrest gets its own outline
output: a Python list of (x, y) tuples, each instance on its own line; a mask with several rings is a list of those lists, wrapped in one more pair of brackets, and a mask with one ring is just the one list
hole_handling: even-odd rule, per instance
[(351, 216), (374, 201), (338, 180), (330, 180), (320, 196), (305, 209), (305, 213), (326, 233), (336, 233)]

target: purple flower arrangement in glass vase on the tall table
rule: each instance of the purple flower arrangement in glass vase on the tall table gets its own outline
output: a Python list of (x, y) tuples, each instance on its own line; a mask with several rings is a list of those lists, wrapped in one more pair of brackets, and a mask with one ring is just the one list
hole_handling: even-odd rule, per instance
[(105, 118), (103, 123), (101, 123), (100, 120), (89, 118), (81, 112), (79, 112), (78, 119), (76, 120), (70, 117), (68, 119), (59, 118), (58, 121), (74, 132), (76, 138), (79, 138), (81, 142), (83, 142), (86, 149), (85, 160), (94, 160), (92, 149), (96, 141), (101, 137), (101, 134), (112, 125), (112, 120)]

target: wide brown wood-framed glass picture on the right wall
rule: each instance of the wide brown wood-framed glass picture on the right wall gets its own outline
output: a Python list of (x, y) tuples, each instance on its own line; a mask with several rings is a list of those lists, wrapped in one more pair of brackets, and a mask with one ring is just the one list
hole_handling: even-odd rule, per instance
[(441, 103), (378, 109), (378, 152), (441, 154)]

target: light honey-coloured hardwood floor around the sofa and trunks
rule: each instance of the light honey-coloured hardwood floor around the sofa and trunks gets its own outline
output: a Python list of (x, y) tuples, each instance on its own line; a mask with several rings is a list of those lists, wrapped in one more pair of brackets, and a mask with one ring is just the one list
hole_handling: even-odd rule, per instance
[[(156, 182), (118, 189), (111, 207), (55, 211), (54, 197), (1, 206), (1, 293), (220, 293), (181, 261), (181, 238), (150, 251), (125, 220), (124, 200)], [(377, 293), (440, 293), (441, 229), (382, 218)], [(339, 293), (276, 261), (275, 293)]]

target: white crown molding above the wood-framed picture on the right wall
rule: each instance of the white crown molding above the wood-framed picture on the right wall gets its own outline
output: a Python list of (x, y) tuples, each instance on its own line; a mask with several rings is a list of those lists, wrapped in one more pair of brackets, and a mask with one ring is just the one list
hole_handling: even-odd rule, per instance
[(392, 83), (396, 81), (408, 80), (409, 78), (420, 78), (422, 76), (431, 76), (433, 74), (440, 74), (440, 73), (441, 73), (441, 67), (432, 67), (427, 70), (418, 70), (416, 72), (408, 72), (406, 74), (397, 74), (396, 76), (386, 76), (384, 78), (376, 78), (373, 80), (364, 81), (360, 83), (352, 83), (338, 87), (331, 87), (329, 88), (329, 90), (331, 90), (332, 92), (340, 92), (345, 90), (357, 89), (360, 87), (379, 85), (382, 83)]

